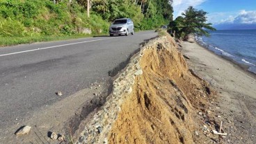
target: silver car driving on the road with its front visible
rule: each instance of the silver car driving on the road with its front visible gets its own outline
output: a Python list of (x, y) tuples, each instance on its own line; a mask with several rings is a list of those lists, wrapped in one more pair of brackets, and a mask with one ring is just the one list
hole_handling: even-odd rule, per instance
[(131, 19), (115, 19), (109, 27), (109, 35), (134, 35), (134, 22)]

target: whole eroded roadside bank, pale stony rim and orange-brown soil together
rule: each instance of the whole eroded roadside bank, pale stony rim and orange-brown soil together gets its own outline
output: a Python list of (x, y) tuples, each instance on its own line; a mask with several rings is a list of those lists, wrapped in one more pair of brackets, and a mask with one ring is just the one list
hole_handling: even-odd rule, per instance
[(169, 35), (148, 42), (113, 83), (78, 143), (200, 143), (198, 109), (213, 91), (189, 70)]

